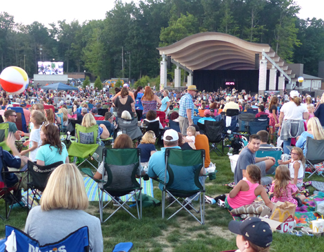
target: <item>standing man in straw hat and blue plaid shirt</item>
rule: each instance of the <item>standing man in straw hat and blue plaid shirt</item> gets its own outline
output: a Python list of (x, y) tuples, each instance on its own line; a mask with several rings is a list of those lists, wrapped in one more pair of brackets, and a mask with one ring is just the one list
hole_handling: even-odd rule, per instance
[(194, 103), (192, 97), (196, 93), (196, 90), (196, 86), (188, 86), (187, 93), (179, 101), (179, 126), (182, 135), (187, 135), (187, 128), (194, 124)]

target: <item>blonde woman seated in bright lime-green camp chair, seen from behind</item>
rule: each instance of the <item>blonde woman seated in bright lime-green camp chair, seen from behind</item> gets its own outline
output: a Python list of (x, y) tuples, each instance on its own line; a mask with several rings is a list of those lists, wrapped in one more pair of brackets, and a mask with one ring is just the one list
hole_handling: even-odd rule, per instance
[[(82, 126), (85, 128), (90, 128), (94, 125), (96, 125), (97, 122), (94, 119), (93, 115), (88, 113), (85, 114), (85, 116), (82, 119)], [(91, 138), (91, 136), (87, 136), (89, 133), (82, 133), (81, 135), (83, 135), (81, 138), (81, 144), (91, 144), (92, 143), (92, 139), (93, 136)], [(97, 138), (97, 144), (101, 144), (100, 138), (101, 139), (106, 139), (110, 136), (108, 129), (105, 127), (105, 125), (100, 124), (99, 125), (99, 129), (98, 129), (98, 138)]]

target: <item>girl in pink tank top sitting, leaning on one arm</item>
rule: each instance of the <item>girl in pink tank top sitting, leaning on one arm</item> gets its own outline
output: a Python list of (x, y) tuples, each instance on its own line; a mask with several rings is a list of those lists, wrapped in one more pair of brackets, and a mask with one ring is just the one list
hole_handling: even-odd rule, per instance
[(205, 202), (209, 204), (218, 202), (221, 205), (223, 201), (225, 202), (225, 207), (232, 211), (241, 206), (252, 204), (259, 195), (261, 195), (265, 205), (272, 210), (274, 205), (269, 197), (267, 197), (265, 188), (261, 185), (261, 170), (258, 166), (250, 164), (246, 167), (245, 178), (236, 184), (232, 191), (230, 191), (230, 194), (219, 195), (214, 199), (205, 196)]

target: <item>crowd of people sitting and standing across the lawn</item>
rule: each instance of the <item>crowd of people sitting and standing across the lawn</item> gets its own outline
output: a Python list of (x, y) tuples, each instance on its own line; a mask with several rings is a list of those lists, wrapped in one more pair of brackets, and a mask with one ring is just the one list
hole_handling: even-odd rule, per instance
[[(71, 126), (71, 120), (85, 128), (98, 124), (96, 142), (99, 145), (104, 146), (102, 140), (112, 136), (114, 137), (113, 148), (134, 148), (133, 140), (138, 140), (137, 148), (141, 149), (141, 167), (147, 167), (146, 172), (149, 177), (159, 177), (160, 180), (164, 180), (165, 176), (165, 148), (204, 149), (205, 167), (201, 169), (201, 177), (199, 177), (203, 184), (205, 177), (202, 175), (212, 165), (210, 144), (201, 128), (194, 124), (194, 117), (197, 117), (197, 122), (204, 124), (206, 121), (220, 121), (221, 115), (229, 109), (238, 110), (238, 114), (257, 109), (255, 117), (269, 118), (269, 133), (261, 130), (256, 135), (250, 135), (249, 142), (241, 150), (236, 164), (234, 172), (236, 186), (228, 195), (206, 196), (206, 202), (214, 204), (221, 201), (227, 209), (232, 210), (250, 204), (260, 195), (265, 204), (272, 209), (273, 203), (277, 201), (287, 200), (297, 205), (305, 199), (304, 195), (298, 193), (303, 184), (307, 153), (306, 138), (324, 139), (324, 95), (315, 99), (307, 94), (300, 95), (296, 90), (282, 96), (250, 95), (245, 91), (228, 93), (225, 90), (211, 93), (204, 90), (199, 92), (194, 85), (188, 86), (183, 92), (176, 90), (154, 92), (150, 86), (139, 86), (136, 90), (132, 90), (128, 84), (122, 88), (114, 88), (114, 93), (115, 95), (112, 95), (109, 88), (100, 91), (94, 88), (80, 88), (79, 91), (64, 92), (28, 88), (20, 95), (8, 95), (5, 91), (1, 93), (0, 114), (3, 115), (4, 122), (9, 124), (10, 135), (7, 145), (13, 154), (3, 151), (3, 161), (14, 168), (26, 166), (28, 159), (41, 166), (63, 162), (63, 165), (56, 168), (50, 176), (48, 186), (41, 197), (41, 206), (32, 209), (28, 215), (26, 232), (41, 244), (60, 240), (74, 229), (86, 225), (90, 229), (90, 250), (102, 251), (103, 247), (99, 220), (84, 212), (88, 206), (88, 199), (83, 195), (85, 192), (83, 192), (81, 174), (74, 164), (68, 164), (68, 150), (60, 139), (60, 129)], [(10, 109), (14, 104), (23, 108), (30, 133), (18, 130), (15, 124), (17, 113)], [(45, 109), (44, 106), (47, 105), (53, 105), (54, 111), (51, 108)], [(157, 113), (162, 113), (164, 118), (161, 119)], [(179, 123), (179, 132), (163, 125), (164, 119)], [(156, 122), (157, 130), (145, 130), (143, 135), (134, 138), (127, 130), (121, 128), (123, 123), (133, 121), (136, 121), (135, 127), (142, 130), (147, 128), (143, 126), (144, 124), (150, 126)], [(143, 123), (137, 124), (139, 121)], [(277, 145), (274, 142), (275, 135), (278, 135), (283, 142), (283, 152), (290, 155), (290, 158), (287, 161), (278, 161), (280, 165), (276, 168), (276, 175), (273, 178), (266, 175), (274, 166), (276, 159), (270, 156), (255, 157), (255, 155), (259, 148)], [(29, 137), (27, 148), (23, 151), (17, 150), (14, 140), (24, 136)], [(90, 144), (90, 138), (90, 135), (83, 134), (81, 143)], [(156, 148), (156, 138), (160, 138), (163, 144), (160, 151)], [(94, 178), (107, 180), (103, 162)], [(17, 198), (21, 198), (17, 188), (19, 177), (12, 176), (10, 179), (8, 180), (10, 187)], [(70, 187), (67, 188), (64, 184)], [(265, 184), (271, 186), (272, 197), (267, 195), (263, 187)], [(159, 188), (162, 189), (163, 184), (159, 184)], [(64, 193), (63, 190), (69, 193)], [(71, 218), (72, 215), (74, 217)], [(79, 216), (77, 219), (76, 215)], [(40, 222), (34, 221), (35, 218), (42, 220), (41, 223), (46, 225), (39, 227), (37, 223)], [(63, 223), (70, 223), (71, 220), (76, 220), (73, 225), (66, 229), (58, 228)], [(47, 228), (52, 225), (57, 228)], [(231, 225), (230, 230), (239, 235), (238, 246), (242, 246), (243, 243), (247, 246), (250, 244), (270, 246), (270, 240), (266, 244), (254, 242), (249, 240), (249, 236), (245, 233), (234, 229), (234, 224)], [(244, 228), (242, 226), (244, 224), (241, 224), (241, 230), (253, 231), (251, 226), (245, 225)], [(53, 233), (43, 235), (46, 232)], [(254, 233), (257, 235), (257, 232)], [(267, 238), (269, 237), (267, 233)]]

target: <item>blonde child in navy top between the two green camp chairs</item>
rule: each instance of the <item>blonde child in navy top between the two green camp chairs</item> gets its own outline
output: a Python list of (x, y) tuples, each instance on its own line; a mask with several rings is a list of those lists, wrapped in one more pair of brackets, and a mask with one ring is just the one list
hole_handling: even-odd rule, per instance
[(149, 130), (147, 133), (143, 135), (141, 140), (141, 144), (137, 146), (137, 148), (141, 149), (141, 165), (148, 166), (148, 161), (153, 153), (156, 152), (156, 148), (154, 146), (156, 141), (156, 136), (152, 130)]

